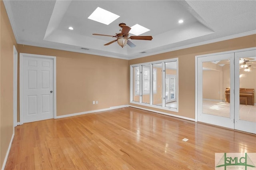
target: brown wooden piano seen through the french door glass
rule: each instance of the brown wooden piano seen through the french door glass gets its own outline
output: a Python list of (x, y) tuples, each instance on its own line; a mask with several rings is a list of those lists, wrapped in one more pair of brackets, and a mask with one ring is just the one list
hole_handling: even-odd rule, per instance
[[(225, 91), (226, 102), (230, 103), (230, 88)], [(240, 104), (254, 106), (254, 89), (240, 88)]]

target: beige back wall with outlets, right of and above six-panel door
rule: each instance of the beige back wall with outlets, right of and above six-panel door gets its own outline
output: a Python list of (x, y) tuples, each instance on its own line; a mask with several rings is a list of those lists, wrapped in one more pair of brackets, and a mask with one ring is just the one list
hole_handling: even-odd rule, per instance
[(20, 44), (18, 49), (56, 56), (57, 116), (128, 105), (128, 60)]

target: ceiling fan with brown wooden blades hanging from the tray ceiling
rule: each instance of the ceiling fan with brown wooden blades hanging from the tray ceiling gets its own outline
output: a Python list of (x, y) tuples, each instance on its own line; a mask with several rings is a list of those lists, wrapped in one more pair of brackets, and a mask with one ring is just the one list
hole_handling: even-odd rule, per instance
[(126, 26), (126, 24), (124, 23), (119, 24), (119, 26), (122, 28), (122, 30), (120, 30), (121, 32), (116, 33), (114, 36), (109, 36), (104, 34), (92, 34), (92, 35), (115, 37), (116, 40), (113, 40), (112, 42), (106, 43), (104, 45), (110, 45), (117, 41), (118, 45), (120, 45), (121, 47), (124, 47), (126, 44), (128, 44), (130, 47), (136, 47), (136, 45), (128, 39), (131, 39), (131, 40), (152, 40), (153, 39), (152, 36), (130, 36), (129, 37), (129, 31), (132, 28)]

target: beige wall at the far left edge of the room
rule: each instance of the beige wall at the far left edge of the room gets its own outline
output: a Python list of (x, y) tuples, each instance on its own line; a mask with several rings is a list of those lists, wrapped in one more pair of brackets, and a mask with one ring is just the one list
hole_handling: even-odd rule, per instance
[(0, 167), (13, 133), (13, 45), (16, 40), (0, 1)]

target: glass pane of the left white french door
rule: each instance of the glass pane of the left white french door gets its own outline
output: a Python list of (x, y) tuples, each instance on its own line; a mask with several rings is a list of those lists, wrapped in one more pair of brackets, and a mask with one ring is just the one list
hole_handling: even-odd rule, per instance
[(202, 63), (202, 113), (230, 117), (230, 60)]

